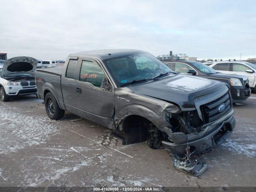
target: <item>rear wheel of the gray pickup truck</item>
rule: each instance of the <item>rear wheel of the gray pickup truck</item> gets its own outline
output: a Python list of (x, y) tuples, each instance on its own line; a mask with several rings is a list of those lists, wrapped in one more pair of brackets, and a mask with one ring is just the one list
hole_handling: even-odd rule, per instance
[(44, 98), (44, 106), (48, 117), (51, 119), (58, 120), (64, 116), (65, 110), (60, 108), (58, 102), (51, 92), (46, 94)]

